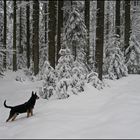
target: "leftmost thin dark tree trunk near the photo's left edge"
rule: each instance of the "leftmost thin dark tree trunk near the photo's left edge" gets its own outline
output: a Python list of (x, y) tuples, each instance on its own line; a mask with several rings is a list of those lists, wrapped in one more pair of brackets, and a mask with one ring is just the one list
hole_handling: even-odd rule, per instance
[(6, 0), (4, 0), (4, 32), (3, 32), (3, 68), (6, 69), (6, 42), (7, 42), (7, 8)]

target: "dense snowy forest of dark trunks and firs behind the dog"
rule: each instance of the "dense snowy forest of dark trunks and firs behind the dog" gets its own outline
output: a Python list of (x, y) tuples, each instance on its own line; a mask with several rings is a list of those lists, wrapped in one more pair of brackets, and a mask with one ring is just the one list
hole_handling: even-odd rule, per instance
[[(0, 0), (0, 75), (43, 80), (40, 95), (67, 98), (85, 83), (140, 74), (140, 1)], [(57, 95), (55, 94), (57, 93)]]

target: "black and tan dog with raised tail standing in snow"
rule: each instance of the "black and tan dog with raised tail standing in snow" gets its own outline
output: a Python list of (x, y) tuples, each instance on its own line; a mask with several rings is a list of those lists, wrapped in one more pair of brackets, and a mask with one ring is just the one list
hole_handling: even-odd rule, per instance
[(20, 113), (26, 113), (27, 112), (27, 117), (32, 116), (33, 115), (33, 108), (34, 108), (34, 105), (35, 105), (37, 99), (39, 99), (39, 97), (36, 95), (36, 93), (34, 94), (34, 92), (32, 91), (32, 95), (31, 95), (30, 99), (27, 102), (25, 102), (24, 104), (17, 105), (17, 106), (7, 106), (6, 105), (6, 100), (5, 100), (4, 101), (4, 106), (6, 108), (11, 109), (9, 117), (6, 120), (6, 122), (8, 122), (9, 120), (14, 121), (15, 118)]

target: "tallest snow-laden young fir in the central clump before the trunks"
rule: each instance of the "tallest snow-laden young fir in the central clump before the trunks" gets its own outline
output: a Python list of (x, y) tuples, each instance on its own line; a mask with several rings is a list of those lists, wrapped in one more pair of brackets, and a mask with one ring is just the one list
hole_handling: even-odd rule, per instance
[(61, 57), (59, 58), (55, 69), (58, 78), (56, 93), (59, 99), (63, 99), (69, 97), (68, 90), (71, 85), (74, 59), (71, 55), (70, 49), (68, 48), (61, 49), (59, 54)]

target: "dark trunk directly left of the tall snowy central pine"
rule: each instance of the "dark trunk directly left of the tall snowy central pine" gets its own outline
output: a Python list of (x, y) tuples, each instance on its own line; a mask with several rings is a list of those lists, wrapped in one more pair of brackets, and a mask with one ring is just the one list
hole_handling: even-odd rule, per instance
[(58, 1), (58, 28), (57, 28), (57, 62), (60, 58), (59, 51), (61, 49), (61, 33), (63, 28), (63, 5), (64, 1)]

